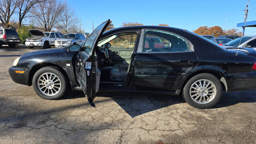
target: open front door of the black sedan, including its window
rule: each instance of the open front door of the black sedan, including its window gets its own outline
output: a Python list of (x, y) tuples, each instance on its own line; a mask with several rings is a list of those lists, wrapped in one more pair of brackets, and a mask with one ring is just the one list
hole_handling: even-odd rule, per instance
[(97, 57), (95, 49), (104, 30), (108, 27), (110, 20), (106, 20), (98, 26), (92, 34), (86, 39), (79, 52), (74, 57), (76, 67), (76, 79), (82, 88), (85, 96), (91, 106), (96, 97), (96, 91), (99, 88), (100, 71), (98, 70)]

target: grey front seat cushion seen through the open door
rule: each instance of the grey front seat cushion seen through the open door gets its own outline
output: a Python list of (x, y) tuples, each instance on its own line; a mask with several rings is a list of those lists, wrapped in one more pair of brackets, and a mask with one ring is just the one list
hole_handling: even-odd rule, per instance
[(115, 82), (123, 82), (127, 76), (127, 69), (112, 68), (109, 71), (109, 79)]

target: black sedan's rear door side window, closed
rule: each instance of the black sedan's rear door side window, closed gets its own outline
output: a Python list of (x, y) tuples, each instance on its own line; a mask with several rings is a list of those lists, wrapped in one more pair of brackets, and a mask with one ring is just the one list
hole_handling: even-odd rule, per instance
[(187, 52), (188, 41), (181, 36), (160, 30), (146, 30), (142, 52)]

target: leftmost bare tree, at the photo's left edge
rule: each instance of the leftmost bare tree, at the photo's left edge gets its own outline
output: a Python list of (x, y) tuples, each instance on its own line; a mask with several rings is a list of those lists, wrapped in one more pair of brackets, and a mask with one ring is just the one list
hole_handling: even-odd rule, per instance
[(15, 13), (18, 4), (14, 0), (0, 1), (0, 21), (3, 27), (7, 28), (12, 15)]

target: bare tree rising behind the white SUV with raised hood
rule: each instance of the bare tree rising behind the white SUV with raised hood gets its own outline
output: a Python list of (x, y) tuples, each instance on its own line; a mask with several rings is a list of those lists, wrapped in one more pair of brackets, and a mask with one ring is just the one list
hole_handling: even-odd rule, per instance
[(61, 1), (46, 0), (37, 3), (36, 7), (31, 9), (30, 19), (36, 26), (51, 31), (58, 26), (63, 8), (64, 4)]

